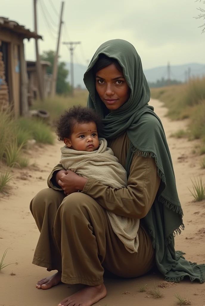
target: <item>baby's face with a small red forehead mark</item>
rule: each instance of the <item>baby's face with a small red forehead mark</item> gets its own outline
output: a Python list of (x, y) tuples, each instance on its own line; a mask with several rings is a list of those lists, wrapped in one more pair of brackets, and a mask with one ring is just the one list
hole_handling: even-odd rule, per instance
[(64, 143), (77, 151), (95, 151), (99, 147), (97, 127), (94, 122), (76, 123), (71, 137)]

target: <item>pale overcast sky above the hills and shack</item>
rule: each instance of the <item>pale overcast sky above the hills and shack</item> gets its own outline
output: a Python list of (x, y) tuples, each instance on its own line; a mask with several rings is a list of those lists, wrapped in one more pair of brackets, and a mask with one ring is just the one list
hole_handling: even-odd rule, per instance
[[(1, 16), (34, 30), (33, 0), (1, 2)], [(61, 1), (37, 2), (38, 34), (43, 36), (43, 41), (39, 41), (40, 52), (55, 50), (59, 21), (51, 3), (59, 12)], [(198, 28), (203, 21), (193, 18), (199, 13), (199, 6), (205, 9), (203, 2), (195, 0), (65, 0), (63, 20), (68, 34), (63, 27), (61, 42), (81, 41), (74, 62), (84, 65), (101, 43), (115, 38), (126, 39), (135, 46), (144, 69), (167, 65), (167, 61), (171, 65), (205, 63), (205, 34)], [(33, 39), (25, 40), (25, 49), (26, 58), (35, 59)], [(61, 60), (69, 62), (69, 51), (62, 43), (60, 55)]]

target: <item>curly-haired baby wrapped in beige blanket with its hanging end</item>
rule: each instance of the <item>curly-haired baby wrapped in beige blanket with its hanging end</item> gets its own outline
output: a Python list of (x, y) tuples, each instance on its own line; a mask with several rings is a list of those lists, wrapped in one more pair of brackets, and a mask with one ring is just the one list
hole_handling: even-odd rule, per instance
[[(102, 126), (101, 118), (92, 109), (73, 106), (66, 110), (57, 122), (58, 140), (61, 148), (63, 168), (83, 177), (95, 178), (103, 185), (121, 189), (127, 187), (127, 173), (107, 141), (98, 137)], [(106, 211), (114, 233), (129, 252), (137, 252), (139, 220), (115, 215)]]

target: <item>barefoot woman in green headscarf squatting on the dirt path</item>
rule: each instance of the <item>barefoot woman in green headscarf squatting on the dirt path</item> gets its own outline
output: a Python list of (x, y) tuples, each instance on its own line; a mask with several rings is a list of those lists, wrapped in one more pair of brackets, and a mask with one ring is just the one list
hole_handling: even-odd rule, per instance
[[(92, 58), (84, 82), (88, 107), (102, 115), (101, 136), (127, 170), (128, 187), (107, 187), (66, 172), (60, 164), (52, 170), (51, 188), (31, 201), (40, 230), (33, 263), (58, 272), (39, 281), (37, 288), (49, 289), (60, 281), (84, 284), (59, 306), (90, 306), (106, 296), (104, 268), (131, 278), (156, 266), (167, 281), (189, 276), (204, 282), (205, 265), (190, 264), (174, 250), (174, 235), (184, 228), (183, 213), (164, 130), (148, 106), (149, 86), (135, 48), (120, 39), (104, 43)], [(106, 210), (141, 219), (138, 252), (124, 248)]]

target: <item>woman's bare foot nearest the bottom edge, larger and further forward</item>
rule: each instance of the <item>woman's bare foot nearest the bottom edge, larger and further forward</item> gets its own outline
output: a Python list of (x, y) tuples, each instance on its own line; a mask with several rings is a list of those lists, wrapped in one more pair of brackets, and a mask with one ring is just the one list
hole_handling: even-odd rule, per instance
[(104, 284), (98, 286), (86, 286), (70, 297), (62, 300), (58, 306), (91, 306), (103, 299), (107, 294)]

